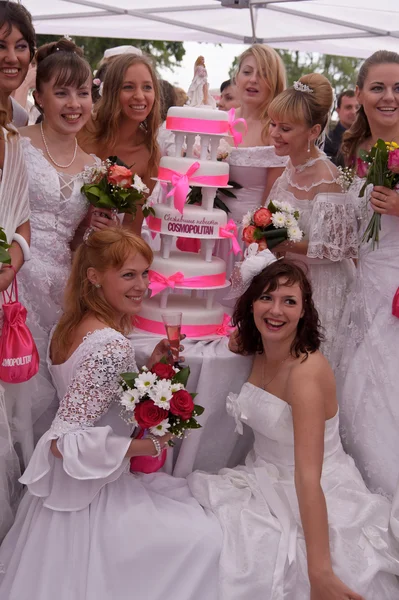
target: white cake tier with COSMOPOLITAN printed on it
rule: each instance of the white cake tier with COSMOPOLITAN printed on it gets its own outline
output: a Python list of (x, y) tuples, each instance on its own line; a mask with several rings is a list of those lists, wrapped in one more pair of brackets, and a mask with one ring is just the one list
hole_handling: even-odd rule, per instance
[(167, 204), (156, 204), (153, 208), (155, 217), (147, 217), (151, 231), (188, 238), (223, 237), (220, 228), (226, 226), (227, 215), (219, 208), (208, 211), (196, 204), (186, 204), (183, 214)]

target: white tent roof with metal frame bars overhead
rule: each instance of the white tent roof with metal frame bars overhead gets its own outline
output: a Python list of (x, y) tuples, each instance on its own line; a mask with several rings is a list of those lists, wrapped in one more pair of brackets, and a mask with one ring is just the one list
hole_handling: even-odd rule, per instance
[(382, 48), (399, 51), (398, 0), (22, 1), (38, 33), (214, 43), (256, 40), (275, 48), (358, 57)]

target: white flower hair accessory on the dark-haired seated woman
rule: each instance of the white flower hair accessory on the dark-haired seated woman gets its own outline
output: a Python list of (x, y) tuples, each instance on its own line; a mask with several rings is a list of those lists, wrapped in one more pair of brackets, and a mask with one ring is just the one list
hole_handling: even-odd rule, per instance
[(270, 250), (258, 251), (258, 244), (250, 244), (245, 250), (245, 258), (237, 262), (231, 277), (231, 288), (226, 298), (239, 298), (247, 291), (254, 277), (278, 259)]

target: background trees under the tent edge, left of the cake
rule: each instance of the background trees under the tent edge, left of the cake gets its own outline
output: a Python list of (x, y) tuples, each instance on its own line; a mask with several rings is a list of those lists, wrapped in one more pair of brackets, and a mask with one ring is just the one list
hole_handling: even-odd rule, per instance
[[(38, 35), (37, 46), (42, 46), (49, 42), (54, 42), (59, 39), (58, 35)], [(131, 44), (137, 48), (141, 48), (143, 52), (149, 54), (155, 61), (157, 68), (174, 69), (180, 65), (186, 51), (182, 42), (160, 42), (150, 40), (126, 40), (120, 38), (93, 38), (74, 36), (73, 41), (77, 46), (80, 46), (87, 61), (92, 69), (97, 69), (98, 63), (103, 57), (104, 50), (113, 48), (114, 46), (124, 46)]]

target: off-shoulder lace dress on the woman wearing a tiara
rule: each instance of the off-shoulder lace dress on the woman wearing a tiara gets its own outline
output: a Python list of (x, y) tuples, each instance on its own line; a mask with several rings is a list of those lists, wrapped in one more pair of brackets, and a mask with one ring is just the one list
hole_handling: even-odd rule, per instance
[[(303, 169), (309, 172), (298, 183)], [(357, 219), (355, 206), (340, 188), (339, 172), (321, 154), (296, 170), (291, 162), (274, 184), (269, 199), (287, 202), (300, 213), (299, 226), (309, 242), (307, 254), (287, 253), (305, 266), (312, 282), (325, 341), (323, 354), (331, 361), (338, 325), (355, 275)], [(314, 174), (317, 172), (317, 179)], [(308, 181), (306, 181), (308, 179)]]

